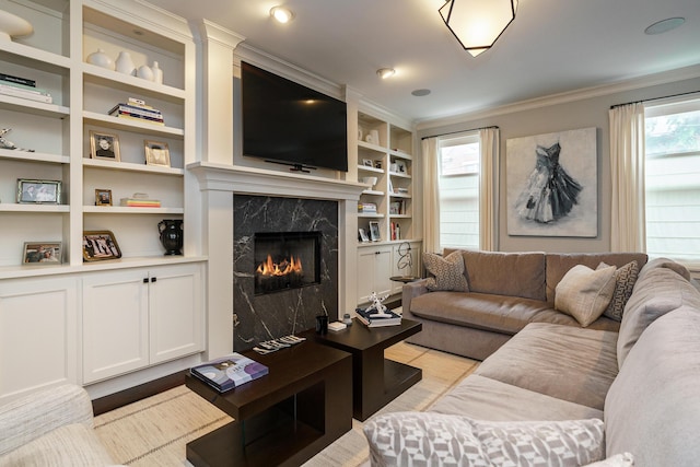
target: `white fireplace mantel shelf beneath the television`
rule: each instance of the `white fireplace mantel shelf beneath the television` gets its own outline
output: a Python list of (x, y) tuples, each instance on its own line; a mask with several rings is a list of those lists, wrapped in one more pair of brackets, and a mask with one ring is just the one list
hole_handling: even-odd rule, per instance
[(202, 190), (248, 195), (289, 196), (310, 199), (359, 200), (368, 186), (312, 175), (197, 162), (187, 165)]

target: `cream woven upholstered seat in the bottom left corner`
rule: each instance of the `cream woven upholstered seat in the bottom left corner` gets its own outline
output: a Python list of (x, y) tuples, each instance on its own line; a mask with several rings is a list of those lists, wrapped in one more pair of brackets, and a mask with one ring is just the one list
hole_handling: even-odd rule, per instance
[(82, 387), (67, 384), (0, 406), (1, 467), (114, 465)]

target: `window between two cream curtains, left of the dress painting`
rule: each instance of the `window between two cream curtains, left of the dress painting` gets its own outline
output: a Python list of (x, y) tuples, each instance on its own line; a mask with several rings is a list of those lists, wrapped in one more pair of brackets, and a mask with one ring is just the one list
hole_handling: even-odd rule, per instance
[(479, 249), (479, 136), (442, 138), (440, 149), (440, 245)]

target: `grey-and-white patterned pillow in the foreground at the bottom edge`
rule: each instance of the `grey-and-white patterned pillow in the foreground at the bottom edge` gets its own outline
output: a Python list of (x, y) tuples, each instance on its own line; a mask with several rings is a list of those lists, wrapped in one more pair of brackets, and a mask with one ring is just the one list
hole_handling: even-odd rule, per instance
[(365, 423), (373, 466), (580, 466), (604, 456), (603, 422), (481, 422), (395, 412)]

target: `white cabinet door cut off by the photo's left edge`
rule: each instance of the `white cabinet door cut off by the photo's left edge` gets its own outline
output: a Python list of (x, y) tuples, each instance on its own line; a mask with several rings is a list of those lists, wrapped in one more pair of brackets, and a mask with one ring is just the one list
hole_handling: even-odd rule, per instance
[(0, 405), (78, 383), (77, 294), (72, 278), (0, 281)]

